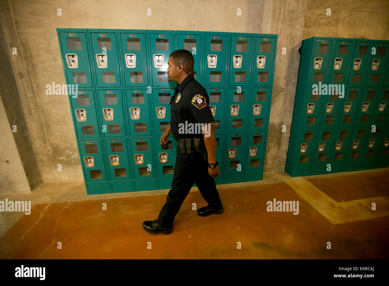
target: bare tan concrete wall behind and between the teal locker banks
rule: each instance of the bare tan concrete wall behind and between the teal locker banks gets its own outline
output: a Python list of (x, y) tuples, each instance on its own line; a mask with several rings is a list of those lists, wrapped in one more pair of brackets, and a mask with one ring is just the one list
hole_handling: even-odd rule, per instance
[[(5, 54), (9, 56), (17, 86), (14, 94), (1, 93), (1, 96), (6, 110), (9, 103), (4, 97), (16, 96), (19, 110), (23, 111), (24, 117), (16, 117), (13, 122), (24, 126), (31, 146), (15, 135), (14, 138), (18, 149), (30, 150), (32, 162), (23, 165), (30, 186), (33, 189), (41, 181), (83, 179), (68, 98), (45, 93), (46, 84), (53, 81), (65, 84), (56, 28), (278, 34), (264, 171), (283, 171), (301, 40), (313, 36), (388, 39), (387, 3), (387, 0), (345, 0), (340, 4), (312, 0), (0, 0)], [(152, 16), (147, 16), (147, 8), (152, 9)], [(242, 10), (242, 16), (237, 16), (238, 8)], [(326, 16), (327, 8), (331, 9), (331, 16)], [(62, 16), (57, 16), (57, 9), (62, 10)], [(12, 54), (12, 47), (17, 48), (17, 55)], [(286, 47), (286, 55), (281, 54), (282, 47)], [(282, 125), (286, 125), (287, 133), (281, 132)], [(58, 164), (62, 165), (61, 172), (57, 171)], [(36, 170), (35, 173), (31, 169)]]

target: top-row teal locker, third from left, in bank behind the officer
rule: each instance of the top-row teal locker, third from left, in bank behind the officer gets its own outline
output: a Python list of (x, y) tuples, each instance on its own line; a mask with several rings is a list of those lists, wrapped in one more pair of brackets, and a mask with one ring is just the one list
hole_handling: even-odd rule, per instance
[(147, 33), (140, 30), (128, 30), (120, 33), (121, 70), (126, 87), (149, 86), (147, 54)]

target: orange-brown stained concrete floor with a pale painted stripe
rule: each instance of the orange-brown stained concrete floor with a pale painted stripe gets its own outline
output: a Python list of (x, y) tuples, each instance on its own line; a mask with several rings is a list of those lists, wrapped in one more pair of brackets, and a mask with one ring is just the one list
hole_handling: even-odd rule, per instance
[[(0, 195), (32, 202), (30, 215), (0, 212), (0, 258), (388, 258), (388, 177), (389, 168), (294, 178), (265, 173), (262, 181), (218, 185), (225, 212), (208, 217), (192, 209), (207, 205), (192, 188), (170, 235), (142, 229), (158, 217), (169, 189), (86, 195), (83, 181), (46, 183), (32, 193)], [(299, 201), (299, 214), (266, 211), (274, 198)]]

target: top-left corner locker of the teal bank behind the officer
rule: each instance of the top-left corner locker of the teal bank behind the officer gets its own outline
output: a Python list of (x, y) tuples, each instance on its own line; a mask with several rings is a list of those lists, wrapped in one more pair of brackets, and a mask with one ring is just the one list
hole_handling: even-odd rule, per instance
[(58, 37), (67, 84), (77, 84), (78, 88), (93, 87), (86, 33), (59, 32)]

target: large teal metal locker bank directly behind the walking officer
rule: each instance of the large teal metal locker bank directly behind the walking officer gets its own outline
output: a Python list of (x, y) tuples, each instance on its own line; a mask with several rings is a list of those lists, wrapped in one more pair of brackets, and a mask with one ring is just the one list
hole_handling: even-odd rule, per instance
[[(277, 35), (57, 29), (88, 194), (169, 189), (177, 141), (167, 62), (191, 51), (214, 116), (216, 184), (262, 180)], [(77, 85), (77, 89), (75, 86)]]

